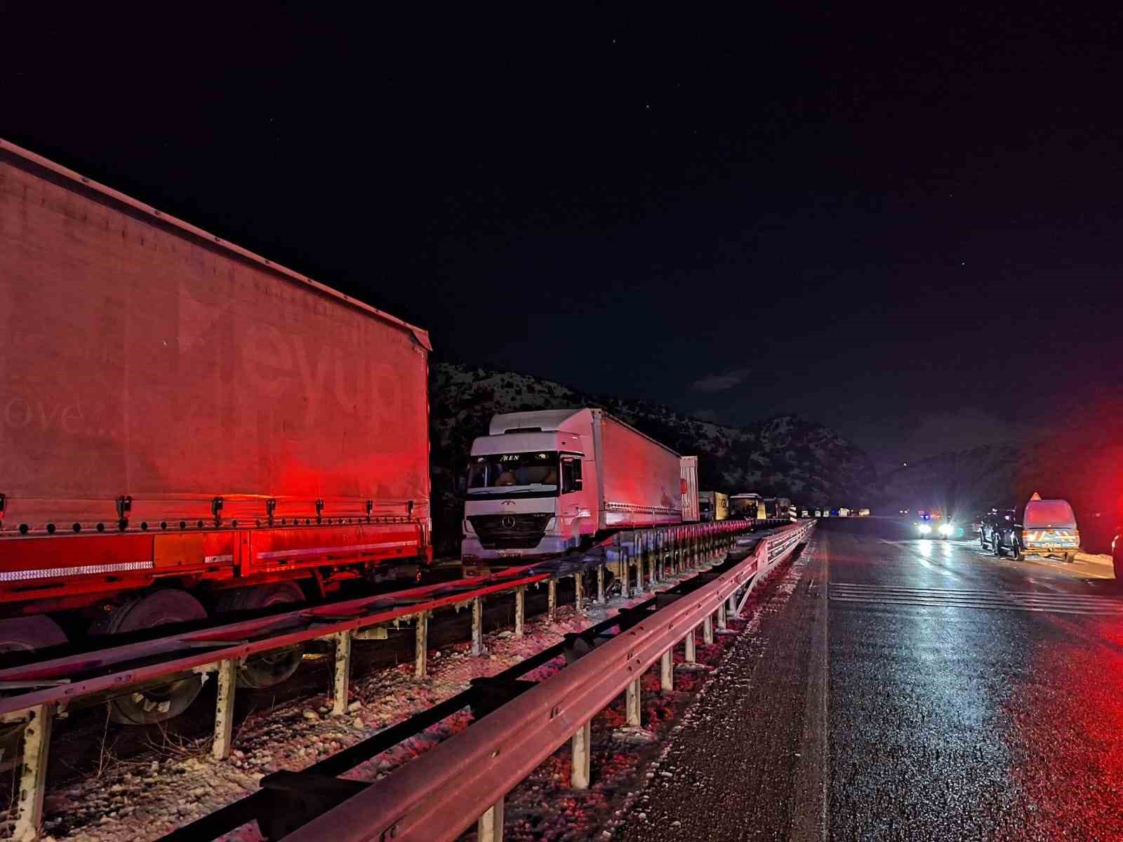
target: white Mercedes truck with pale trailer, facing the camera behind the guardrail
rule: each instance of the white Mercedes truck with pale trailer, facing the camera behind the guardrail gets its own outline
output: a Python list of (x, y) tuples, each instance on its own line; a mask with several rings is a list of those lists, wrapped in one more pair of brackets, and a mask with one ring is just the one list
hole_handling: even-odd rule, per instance
[(618, 530), (682, 523), (682, 483), (678, 454), (604, 410), (495, 415), (468, 459), (465, 571), (481, 560), (560, 553)]

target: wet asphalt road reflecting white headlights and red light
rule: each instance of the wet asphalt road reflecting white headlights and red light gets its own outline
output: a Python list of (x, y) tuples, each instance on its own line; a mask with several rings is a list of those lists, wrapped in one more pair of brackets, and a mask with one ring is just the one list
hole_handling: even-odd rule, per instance
[(1111, 568), (910, 529), (820, 524), (624, 839), (1123, 840)]

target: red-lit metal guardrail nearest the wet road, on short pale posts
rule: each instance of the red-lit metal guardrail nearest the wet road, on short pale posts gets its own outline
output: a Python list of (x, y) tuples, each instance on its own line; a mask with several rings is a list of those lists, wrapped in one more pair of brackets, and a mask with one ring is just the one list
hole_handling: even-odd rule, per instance
[(287, 842), (437, 842), (455, 840), (478, 823), (480, 842), (503, 833), (509, 791), (567, 740), (573, 741), (575, 788), (590, 777), (592, 719), (627, 693), (630, 725), (640, 725), (640, 677), (660, 661), (660, 684), (674, 683), (672, 650), (685, 641), (693, 660), (694, 634), (712, 637), (713, 617), (725, 619), (741, 591), (751, 589), (791, 555), (814, 522), (763, 539), (756, 551), (697, 591), (670, 603), (597, 647), (573, 666), (539, 683), (472, 727), (449, 738), (395, 772), (341, 803)]

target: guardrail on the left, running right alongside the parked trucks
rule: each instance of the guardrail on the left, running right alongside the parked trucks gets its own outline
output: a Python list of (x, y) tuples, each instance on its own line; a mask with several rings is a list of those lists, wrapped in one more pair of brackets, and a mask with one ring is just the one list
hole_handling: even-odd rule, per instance
[(600, 601), (604, 600), (606, 570), (617, 576), (622, 594), (628, 596), (633, 578), (638, 593), (645, 579), (655, 582), (668, 569), (684, 568), (705, 553), (728, 547), (737, 534), (756, 525), (765, 524), (721, 521), (636, 530), (588, 553), (554, 558), (491, 576), (305, 607), (2, 669), (0, 689), (13, 695), (0, 697), (0, 721), (24, 724), (22, 771), (12, 839), (20, 842), (38, 839), (53, 722), (80, 698), (111, 698), (188, 672), (216, 672), (218, 702), (211, 753), (223, 760), (232, 748), (238, 666), (250, 656), (312, 640), (330, 641), (335, 647), (331, 706), (334, 714), (343, 715), (348, 703), (354, 639), (378, 639), (385, 637), (387, 624), (412, 620), (414, 675), (421, 679), (427, 670), (428, 622), (438, 608), (472, 603), (473, 653), (481, 655), (486, 596), (514, 592), (514, 632), (521, 635), (528, 585), (547, 583), (550, 615), (557, 607), (558, 579), (574, 578), (579, 607), (585, 600), (584, 575), (594, 569)]

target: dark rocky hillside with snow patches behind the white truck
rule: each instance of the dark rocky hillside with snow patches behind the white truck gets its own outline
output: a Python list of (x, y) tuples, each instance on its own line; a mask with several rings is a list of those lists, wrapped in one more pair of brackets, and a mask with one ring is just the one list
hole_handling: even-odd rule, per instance
[[(784, 415), (738, 428), (701, 421), (646, 401), (590, 395), (512, 372), (450, 363), (432, 366), (433, 518), (437, 540), (458, 532), (456, 477), (472, 439), (497, 412), (602, 406), (681, 454), (699, 457), (705, 489), (783, 494), (809, 505), (870, 505), (875, 472), (866, 455), (821, 424)], [(445, 549), (451, 544), (445, 543)]]

